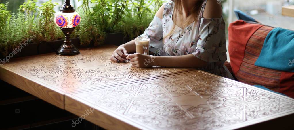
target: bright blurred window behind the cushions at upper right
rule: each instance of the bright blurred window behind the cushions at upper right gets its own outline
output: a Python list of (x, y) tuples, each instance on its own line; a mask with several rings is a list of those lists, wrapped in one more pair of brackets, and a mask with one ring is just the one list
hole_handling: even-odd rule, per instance
[[(241, 10), (262, 24), (294, 30), (294, 18), (282, 15), (282, 6), (294, 4), (293, 0), (229, 0), (233, 9)], [(232, 13), (231, 13), (232, 14)], [(232, 21), (237, 20), (233, 13)]]

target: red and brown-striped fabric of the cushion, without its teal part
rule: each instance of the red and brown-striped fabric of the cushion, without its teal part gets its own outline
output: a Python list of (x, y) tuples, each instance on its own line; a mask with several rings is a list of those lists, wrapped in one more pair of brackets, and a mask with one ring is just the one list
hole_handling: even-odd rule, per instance
[(263, 42), (272, 27), (238, 20), (228, 28), (229, 56), (238, 81), (262, 85), (270, 90), (294, 98), (294, 73), (255, 66)]

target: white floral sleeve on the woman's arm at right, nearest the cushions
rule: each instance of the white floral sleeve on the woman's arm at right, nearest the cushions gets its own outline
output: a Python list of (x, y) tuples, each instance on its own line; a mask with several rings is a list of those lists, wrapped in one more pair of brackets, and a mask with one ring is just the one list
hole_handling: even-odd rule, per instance
[(208, 63), (225, 61), (225, 22), (223, 18), (201, 18), (198, 39), (194, 40), (197, 47), (194, 56)]

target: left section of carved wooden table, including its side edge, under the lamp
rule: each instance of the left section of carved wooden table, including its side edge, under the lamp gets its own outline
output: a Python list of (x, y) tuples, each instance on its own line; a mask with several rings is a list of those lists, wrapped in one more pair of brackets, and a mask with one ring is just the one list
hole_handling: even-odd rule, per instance
[(64, 109), (64, 94), (193, 69), (140, 69), (110, 61), (115, 45), (81, 49), (76, 56), (55, 53), (11, 59), (0, 79)]

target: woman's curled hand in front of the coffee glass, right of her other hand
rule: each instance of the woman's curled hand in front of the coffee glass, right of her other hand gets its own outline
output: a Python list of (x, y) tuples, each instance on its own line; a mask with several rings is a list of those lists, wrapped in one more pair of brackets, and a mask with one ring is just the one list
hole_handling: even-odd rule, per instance
[(132, 65), (138, 68), (148, 68), (152, 67), (154, 63), (154, 56), (149, 56), (140, 53), (130, 54), (126, 59), (130, 59)]

